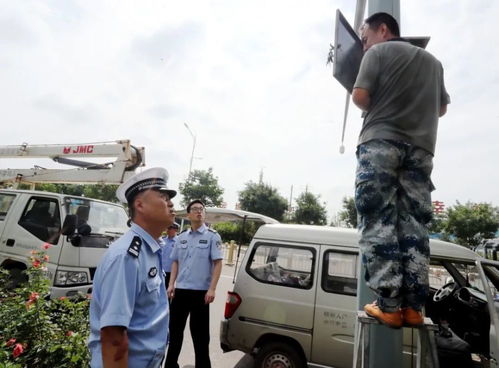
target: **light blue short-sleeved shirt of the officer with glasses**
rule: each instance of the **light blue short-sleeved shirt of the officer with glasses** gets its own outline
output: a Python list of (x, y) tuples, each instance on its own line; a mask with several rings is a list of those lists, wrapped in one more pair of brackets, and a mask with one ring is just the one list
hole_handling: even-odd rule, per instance
[(180, 233), (171, 254), (178, 262), (176, 288), (208, 290), (213, 261), (222, 258), (222, 239), (206, 225)]

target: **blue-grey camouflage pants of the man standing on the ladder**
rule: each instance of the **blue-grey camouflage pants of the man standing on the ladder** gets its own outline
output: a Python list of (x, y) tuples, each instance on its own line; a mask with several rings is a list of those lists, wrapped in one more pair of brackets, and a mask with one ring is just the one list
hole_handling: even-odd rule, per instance
[(421, 310), (428, 296), (432, 159), (421, 148), (389, 140), (357, 148), (359, 245), (365, 280), (385, 312)]

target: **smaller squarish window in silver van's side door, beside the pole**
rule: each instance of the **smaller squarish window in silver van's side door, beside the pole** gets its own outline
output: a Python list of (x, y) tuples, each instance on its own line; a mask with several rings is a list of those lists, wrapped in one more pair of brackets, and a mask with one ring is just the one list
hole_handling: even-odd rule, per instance
[(358, 256), (327, 251), (322, 267), (322, 289), (329, 293), (357, 295)]

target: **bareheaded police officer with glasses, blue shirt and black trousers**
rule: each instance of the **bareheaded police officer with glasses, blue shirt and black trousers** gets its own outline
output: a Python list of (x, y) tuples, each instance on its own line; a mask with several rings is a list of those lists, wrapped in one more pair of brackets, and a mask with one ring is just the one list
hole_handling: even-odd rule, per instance
[[(210, 368), (210, 303), (215, 299), (222, 272), (222, 239), (205, 223), (204, 203), (196, 199), (187, 206), (191, 228), (178, 235), (171, 254), (173, 260), (168, 286), (171, 304), (170, 344), (166, 368), (177, 363), (187, 317), (194, 343), (196, 368)], [(176, 282), (176, 285), (175, 285)]]

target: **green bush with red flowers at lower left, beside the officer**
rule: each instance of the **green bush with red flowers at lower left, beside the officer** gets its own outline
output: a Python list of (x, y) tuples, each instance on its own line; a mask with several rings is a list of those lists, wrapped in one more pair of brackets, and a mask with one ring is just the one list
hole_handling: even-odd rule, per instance
[(0, 368), (88, 366), (89, 300), (49, 298), (49, 246), (31, 253), (28, 281), (17, 289), (3, 287), (9, 274), (0, 271)]

